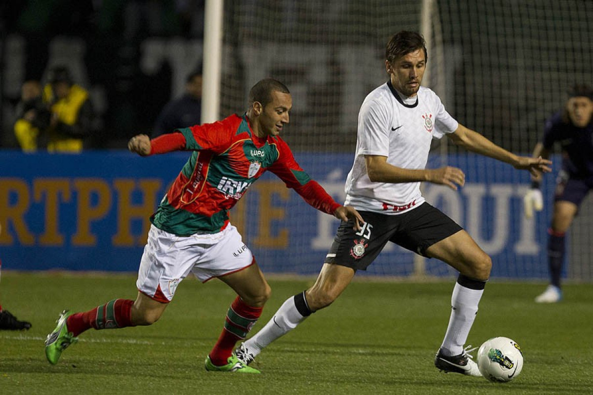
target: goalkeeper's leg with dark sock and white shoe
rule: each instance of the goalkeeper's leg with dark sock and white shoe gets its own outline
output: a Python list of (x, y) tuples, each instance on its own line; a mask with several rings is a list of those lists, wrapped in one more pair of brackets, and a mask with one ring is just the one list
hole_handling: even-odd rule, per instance
[(562, 300), (560, 277), (566, 251), (566, 231), (576, 216), (578, 205), (569, 201), (554, 203), (552, 222), (548, 231), (548, 265), (550, 270), (550, 284), (546, 290), (535, 298), (537, 303), (556, 303)]

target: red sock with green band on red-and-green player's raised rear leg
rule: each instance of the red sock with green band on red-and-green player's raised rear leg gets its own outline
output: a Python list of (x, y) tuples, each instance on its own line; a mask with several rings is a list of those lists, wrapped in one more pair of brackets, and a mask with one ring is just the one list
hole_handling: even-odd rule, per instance
[(132, 304), (134, 301), (130, 299), (114, 299), (85, 313), (72, 314), (66, 320), (68, 332), (78, 336), (91, 327), (112, 329), (135, 326), (132, 323)]

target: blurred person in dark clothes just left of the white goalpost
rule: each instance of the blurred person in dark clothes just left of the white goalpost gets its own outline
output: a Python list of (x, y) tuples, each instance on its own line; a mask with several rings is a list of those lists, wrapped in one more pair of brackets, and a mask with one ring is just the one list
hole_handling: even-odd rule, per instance
[(200, 124), (202, 117), (202, 70), (187, 76), (185, 93), (165, 105), (158, 115), (152, 137), (171, 133), (175, 129)]

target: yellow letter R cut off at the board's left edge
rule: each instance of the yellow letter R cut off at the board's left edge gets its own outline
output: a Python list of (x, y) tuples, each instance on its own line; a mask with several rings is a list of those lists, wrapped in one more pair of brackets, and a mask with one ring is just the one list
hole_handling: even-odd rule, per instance
[[(11, 195), (16, 197), (10, 203)], [(0, 245), (11, 245), (14, 240), (8, 232), (8, 224), (16, 233), (18, 241), (25, 246), (35, 243), (35, 237), (27, 228), (24, 216), (30, 207), (30, 195), (27, 183), (20, 178), (0, 178)]]

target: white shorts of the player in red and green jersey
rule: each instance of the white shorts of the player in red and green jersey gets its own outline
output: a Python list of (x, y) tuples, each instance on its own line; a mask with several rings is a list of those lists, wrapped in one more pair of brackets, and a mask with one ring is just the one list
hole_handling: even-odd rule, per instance
[[(151, 225), (142, 254), (136, 287), (155, 300), (173, 299), (177, 285), (190, 271), (202, 282), (240, 271), (253, 264), (253, 254), (237, 228), (212, 235), (176, 236)], [(161, 293), (158, 292), (160, 288)], [(164, 298), (163, 298), (164, 296)]]

